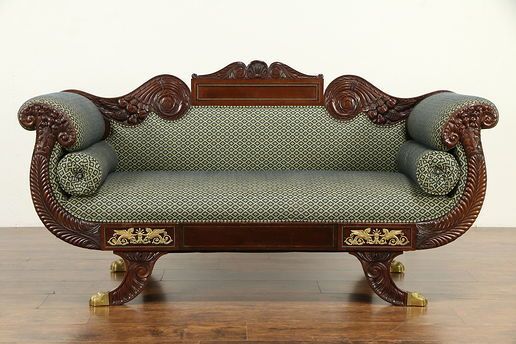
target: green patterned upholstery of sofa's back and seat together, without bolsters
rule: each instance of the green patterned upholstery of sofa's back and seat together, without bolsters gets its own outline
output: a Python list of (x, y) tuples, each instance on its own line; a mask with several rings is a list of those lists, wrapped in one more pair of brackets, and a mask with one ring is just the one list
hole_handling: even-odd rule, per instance
[(465, 185), (460, 145), (451, 152), (457, 187), (430, 195), (397, 172), (405, 122), (339, 121), (323, 107), (192, 107), (177, 121), (151, 113), (111, 126), (118, 167), (94, 194), (65, 192), (57, 178), (66, 152), (51, 155), (54, 196), (84, 220), (419, 222), (446, 214)]

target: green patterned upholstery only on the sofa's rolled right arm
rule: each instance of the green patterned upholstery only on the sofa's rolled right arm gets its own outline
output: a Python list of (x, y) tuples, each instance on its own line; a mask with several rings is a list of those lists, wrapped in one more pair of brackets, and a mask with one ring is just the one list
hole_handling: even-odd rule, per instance
[(442, 142), (442, 130), (450, 116), (458, 109), (486, 104), (496, 109), (489, 100), (462, 94), (443, 92), (419, 102), (407, 120), (411, 138), (436, 150), (447, 150)]

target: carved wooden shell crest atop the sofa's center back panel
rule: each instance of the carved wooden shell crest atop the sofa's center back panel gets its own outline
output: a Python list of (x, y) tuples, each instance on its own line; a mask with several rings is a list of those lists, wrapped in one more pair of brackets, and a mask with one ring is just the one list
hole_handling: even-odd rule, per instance
[(192, 78), (209, 79), (307, 79), (322, 78), (322, 75), (307, 75), (281, 62), (271, 63), (251, 61), (247, 66), (243, 62), (233, 62), (221, 70), (205, 75), (193, 74)]

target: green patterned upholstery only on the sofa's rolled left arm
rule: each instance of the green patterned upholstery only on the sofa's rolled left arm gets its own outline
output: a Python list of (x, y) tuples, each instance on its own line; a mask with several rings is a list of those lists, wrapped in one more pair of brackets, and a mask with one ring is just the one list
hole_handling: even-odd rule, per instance
[(19, 112), (35, 103), (49, 105), (70, 118), (77, 133), (77, 140), (67, 148), (68, 151), (82, 150), (102, 139), (105, 131), (104, 118), (89, 99), (75, 93), (50, 93), (29, 99)]

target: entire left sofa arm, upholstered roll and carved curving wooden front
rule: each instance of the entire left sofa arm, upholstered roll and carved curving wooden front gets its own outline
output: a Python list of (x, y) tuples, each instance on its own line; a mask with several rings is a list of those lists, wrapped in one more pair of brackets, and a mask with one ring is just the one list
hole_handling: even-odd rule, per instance
[(100, 249), (100, 224), (78, 219), (66, 211), (54, 195), (50, 175), (56, 144), (76, 151), (102, 139), (106, 124), (99, 110), (81, 95), (60, 92), (28, 100), (20, 108), (18, 120), (25, 129), (36, 130), (30, 189), (41, 222), (61, 240)]

